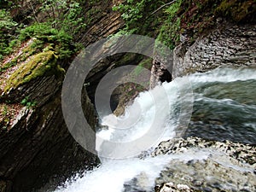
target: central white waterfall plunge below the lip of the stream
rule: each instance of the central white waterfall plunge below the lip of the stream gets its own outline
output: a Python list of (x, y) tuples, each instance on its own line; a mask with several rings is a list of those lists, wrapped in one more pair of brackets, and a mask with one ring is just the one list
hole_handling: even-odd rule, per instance
[[(126, 108), (124, 116), (105, 116), (102, 125), (108, 125), (108, 130), (96, 134), (96, 149), (99, 156), (112, 159), (135, 156), (143, 150), (155, 147), (163, 137), (174, 137), (177, 118), (171, 117), (177, 113), (177, 106), (181, 103), (178, 96), (182, 84), (179, 83), (164, 83), (156, 86), (154, 90), (141, 93), (134, 103)], [(172, 94), (168, 94), (170, 92)], [(190, 100), (192, 101), (192, 97)], [(182, 111), (179, 110), (178, 113)], [(146, 134), (148, 137), (143, 137)], [(106, 141), (113, 144), (109, 146)], [(132, 143), (133, 141), (135, 142)]]

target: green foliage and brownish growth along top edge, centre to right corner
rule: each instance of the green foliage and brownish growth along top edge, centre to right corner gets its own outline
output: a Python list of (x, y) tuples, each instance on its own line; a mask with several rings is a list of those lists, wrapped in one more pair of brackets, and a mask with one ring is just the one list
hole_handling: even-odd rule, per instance
[[(159, 32), (157, 40), (174, 49), (181, 32), (186, 33), (192, 43), (201, 34), (211, 31), (219, 16), (236, 22), (255, 20), (255, 0), (177, 0), (168, 7), (162, 7), (157, 14), (151, 14), (165, 3), (126, 0), (114, 6), (113, 10), (119, 11), (125, 20), (125, 28), (117, 35), (140, 33), (150, 36), (150, 31), (154, 31), (154, 34)], [(160, 27), (157, 29), (148, 23)]]

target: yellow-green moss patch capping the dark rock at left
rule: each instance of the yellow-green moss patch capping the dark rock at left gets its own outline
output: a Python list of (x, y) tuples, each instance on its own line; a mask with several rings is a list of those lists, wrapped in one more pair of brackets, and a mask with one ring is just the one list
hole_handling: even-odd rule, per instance
[(35, 55), (31, 58), (31, 61), (21, 65), (15, 73), (9, 77), (4, 92), (8, 92), (11, 88), (17, 88), (38, 77), (63, 73), (64, 69), (58, 66), (56, 61), (57, 56), (52, 50)]

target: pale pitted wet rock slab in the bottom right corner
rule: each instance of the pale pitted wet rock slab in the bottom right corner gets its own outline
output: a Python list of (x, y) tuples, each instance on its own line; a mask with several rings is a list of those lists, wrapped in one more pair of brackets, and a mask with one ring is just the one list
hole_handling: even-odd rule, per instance
[(143, 183), (147, 181), (147, 172), (142, 172), (131, 182), (125, 183), (125, 189), (130, 186), (129, 183), (132, 183), (136, 191), (147, 192), (256, 189), (256, 146), (253, 145), (188, 137), (162, 142), (151, 155), (173, 156), (173, 160), (155, 179), (154, 189), (143, 187)]

